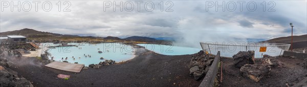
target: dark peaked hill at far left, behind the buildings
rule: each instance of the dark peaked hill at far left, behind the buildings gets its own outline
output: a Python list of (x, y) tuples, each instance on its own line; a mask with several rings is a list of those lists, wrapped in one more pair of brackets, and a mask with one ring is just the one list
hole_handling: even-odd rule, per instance
[(55, 37), (55, 36), (62, 36), (62, 37), (79, 37), (76, 35), (61, 35), (61, 34), (55, 34), (55, 33), (49, 33), (49, 32), (40, 32), (36, 31), (30, 28), (24, 28), (22, 30), (16, 30), (16, 31), (9, 31), (9, 32), (3, 32), (0, 33), (1, 36), (5, 35), (21, 35), (29, 38), (38, 38), (38, 37)]

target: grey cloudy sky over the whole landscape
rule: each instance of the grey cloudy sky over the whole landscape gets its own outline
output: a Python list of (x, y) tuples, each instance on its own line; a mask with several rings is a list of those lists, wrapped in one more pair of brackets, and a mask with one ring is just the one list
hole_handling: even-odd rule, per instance
[[(123, 11), (113, 7), (120, 2)], [(12, 3), (18, 5), (1, 1), (0, 32), (32, 28), (80, 36), (174, 38), (186, 44), (290, 36), (290, 22), (294, 35), (307, 33), (306, 1), (40, 1), (37, 7), (20, 1), (20, 12)]]

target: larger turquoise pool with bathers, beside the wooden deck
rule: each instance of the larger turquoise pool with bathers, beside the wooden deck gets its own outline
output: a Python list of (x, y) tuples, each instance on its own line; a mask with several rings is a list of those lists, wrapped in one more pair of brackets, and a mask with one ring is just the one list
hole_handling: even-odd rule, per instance
[[(45, 43), (44, 45), (56, 46), (59, 44)], [(122, 62), (133, 59), (134, 57), (133, 47), (120, 43), (69, 43), (69, 45), (77, 45), (78, 47), (55, 47), (50, 48), (48, 52), (54, 57), (53, 60), (55, 61), (68, 61), (69, 63), (78, 62), (78, 64), (84, 64), (85, 66), (98, 64), (105, 60)], [(98, 53), (98, 51), (102, 51), (102, 53)], [(91, 57), (89, 57), (89, 55)], [(67, 60), (65, 60), (66, 57), (68, 57)], [(100, 57), (103, 57), (104, 60), (100, 60)], [(49, 59), (51, 59), (51, 57), (49, 57)]]

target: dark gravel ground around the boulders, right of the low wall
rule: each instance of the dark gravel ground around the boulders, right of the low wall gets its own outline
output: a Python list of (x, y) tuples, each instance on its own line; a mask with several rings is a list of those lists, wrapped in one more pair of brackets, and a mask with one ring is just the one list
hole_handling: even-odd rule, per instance
[[(259, 82), (255, 82), (240, 74), (239, 68), (235, 68), (232, 59), (223, 61), (223, 81), (221, 86), (290, 86), (307, 76), (307, 70), (303, 69), (304, 61), (301, 59), (289, 59), (289, 57), (277, 57), (284, 64), (284, 68), (272, 68), (271, 73)], [(260, 61), (256, 61), (260, 64)]]

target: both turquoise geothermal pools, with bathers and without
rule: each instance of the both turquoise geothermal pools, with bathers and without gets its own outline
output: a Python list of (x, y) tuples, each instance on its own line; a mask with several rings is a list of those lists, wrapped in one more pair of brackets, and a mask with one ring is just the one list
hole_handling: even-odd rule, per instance
[[(49, 46), (57, 46), (60, 44), (43, 43), (43, 49)], [(105, 60), (114, 60), (116, 62), (127, 61), (135, 57), (135, 49), (130, 45), (121, 43), (100, 43), (100, 44), (89, 44), (89, 43), (69, 43), (67, 47), (54, 47), (49, 48), (48, 52), (54, 57), (55, 61), (68, 61), (69, 63), (78, 62), (78, 64), (84, 64), (88, 66), (90, 64), (98, 64)], [(157, 45), (157, 44), (138, 44), (148, 50), (154, 51), (164, 55), (183, 55), (193, 54), (199, 52), (201, 48), (191, 47), (180, 47), (180, 46), (168, 46), (168, 45)], [(102, 53), (98, 53), (102, 51)], [(86, 56), (85, 56), (85, 55)], [(91, 55), (91, 57), (89, 57)], [(51, 59), (51, 56), (49, 59)], [(74, 57), (73, 57), (74, 56)], [(63, 59), (62, 59), (63, 57)], [(68, 57), (67, 60), (65, 58)], [(103, 57), (104, 60), (100, 60)]]

